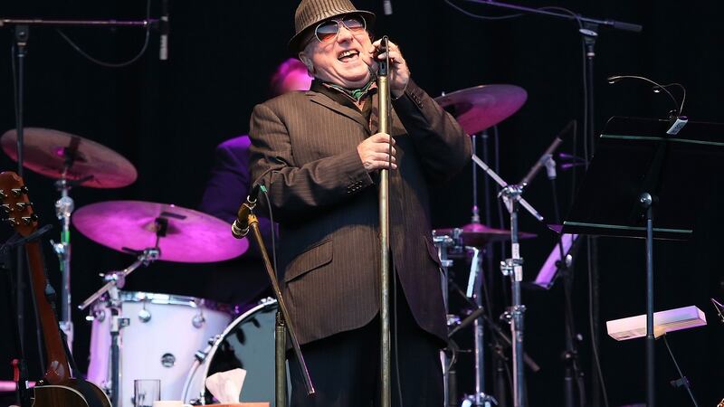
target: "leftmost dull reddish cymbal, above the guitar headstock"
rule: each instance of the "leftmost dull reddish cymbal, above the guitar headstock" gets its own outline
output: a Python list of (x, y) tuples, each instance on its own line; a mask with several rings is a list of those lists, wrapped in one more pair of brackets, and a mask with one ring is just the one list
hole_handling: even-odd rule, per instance
[[(23, 165), (33, 172), (60, 179), (83, 180), (81, 186), (120, 188), (133, 184), (138, 173), (124, 156), (87, 138), (50, 128), (24, 128)], [(17, 161), (17, 132), (10, 129), (0, 137), (5, 154)]]

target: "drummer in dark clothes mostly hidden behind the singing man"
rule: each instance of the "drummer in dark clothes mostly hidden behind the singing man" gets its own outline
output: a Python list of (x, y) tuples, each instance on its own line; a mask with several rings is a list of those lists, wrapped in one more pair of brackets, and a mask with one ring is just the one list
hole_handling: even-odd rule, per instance
[[(294, 90), (309, 90), (311, 77), (307, 67), (296, 58), (290, 58), (277, 67), (270, 80), (271, 97)], [(249, 136), (228, 139), (218, 145), (214, 153), (211, 177), (205, 186), (199, 210), (231, 224), (236, 212), (249, 194)], [(271, 222), (259, 217), (265, 245), (271, 248)], [(271, 251), (271, 249), (270, 249)], [(230, 304), (249, 304), (270, 287), (262, 255), (256, 241), (250, 239), (249, 251), (236, 260), (216, 265), (214, 278), (205, 279), (205, 297)], [(271, 293), (270, 293), (271, 295)]]

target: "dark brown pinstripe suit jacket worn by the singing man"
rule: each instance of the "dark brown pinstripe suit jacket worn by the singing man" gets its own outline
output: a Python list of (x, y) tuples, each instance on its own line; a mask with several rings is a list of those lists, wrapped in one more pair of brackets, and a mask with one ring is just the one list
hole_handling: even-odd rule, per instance
[[(269, 189), (280, 223), (281, 289), (302, 344), (362, 327), (379, 308), (377, 188), (357, 154), (357, 145), (376, 132), (376, 95), (373, 103), (374, 128), (358, 110), (311, 90), (253, 110), (252, 179)], [(390, 171), (392, 258), (415, 320), (444, 340), (428, 185), (459, 172), (471, 142), (412, 80), (392, 105), (398, 165)]]

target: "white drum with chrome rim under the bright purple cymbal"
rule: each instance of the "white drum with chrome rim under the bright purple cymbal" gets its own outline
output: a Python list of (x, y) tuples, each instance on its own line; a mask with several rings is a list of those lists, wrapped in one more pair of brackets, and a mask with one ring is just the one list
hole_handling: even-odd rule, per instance
[[(119, 406), (133, 407), (133, 381), (160, 379), (161, 400), (178, 400), (194, 352), (218, 335), (232, 319), (232, 309), (201, 298), (119, 291)], [(107, 389), (110, 381), (110, 306), (93, 305), (88, 380)]]

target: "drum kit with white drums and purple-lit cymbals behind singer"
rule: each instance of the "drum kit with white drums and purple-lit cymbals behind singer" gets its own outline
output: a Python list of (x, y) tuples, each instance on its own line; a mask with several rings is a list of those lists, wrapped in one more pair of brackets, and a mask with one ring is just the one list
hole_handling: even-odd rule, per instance
[[(477, 86), (455, 91), (436, 101), (476, 136), (515, 113), (525, 102), (525, 90), (512, 85)], [(0, 137), (5, 153), (17, 160), (15, 130)], [(138, 174), (125, 157), (89, 139), (46, 128), (24, 129), (24, 166), (50, 177), (61, 194), (56, 214), (62, 223), (60, 241), (52, 246), (62, 271), (61, 327), (72, 341), (70, 224), (91, 241), (136, 260), (124, 270), (103, 274), (103, 286), (78, 307), (89, 308), (91, 321), (88, 380), (112, 395), (113, 405), (132, 407), (133, 380), (161, 379), (163, 399), (205, 404), (212, 402), (205, 378), (215, 372), (243, 367), (249, 374), (244, 400), (274, 398), (274, 315), (276, 300), (262, 300), (242, 315), (232, 306), (203, 298), (122, 291), (125, 278), (156, 260), (215, 262), (236, 258), (248, 248), (234, 239), (229, 224), (206, 213), (173, 204), (109, 201), (74, 211), (71, 188), (119, 188)], [(473, 168), (472, 222), (433, 231), (446, 274), (452, 252), (472, 252), (469, 297), (481, 307), (481, 249), (509, 241), (510, 231), (480, 222), (477, 181)], [(519, 232), (519, 239), (535, 237)], [(447, 296), (447, 276), (443, 292)], [(447, 301), (447, 298), (445, 298)], [(458, 318), (459, 319), (459, 318)], [(475, 320), (476, 393), (472, 405), (489, 405), (482, 389), (483, 341)], [(451, 323), (452, 326), (455, 323)], [(168, 340), (168, 338), (176, 338)], [(122, 345), (121, 345), (122, 343)], [(444, 361), (443, 361), (444, 362)], [(447, 373), (447, 372), (446, 372)]]

